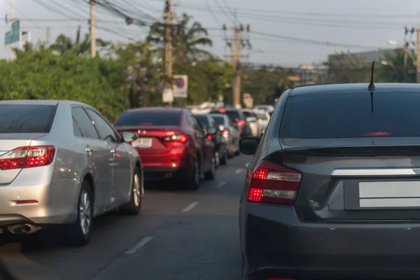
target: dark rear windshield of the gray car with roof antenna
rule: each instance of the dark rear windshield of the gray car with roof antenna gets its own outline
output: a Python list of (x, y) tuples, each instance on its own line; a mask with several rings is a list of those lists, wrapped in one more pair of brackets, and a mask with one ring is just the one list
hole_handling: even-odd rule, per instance
[(281, 121), (281, 138), (420, 137), (419, 92), (296, 95)]

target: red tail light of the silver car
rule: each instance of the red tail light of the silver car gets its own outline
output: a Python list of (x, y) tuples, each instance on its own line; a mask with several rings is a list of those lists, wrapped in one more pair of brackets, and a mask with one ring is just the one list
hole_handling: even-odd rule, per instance
[(0, 155), (0, 169), (16, 169), (49, 165), (54, 160), (54, 146), (19, 147)]

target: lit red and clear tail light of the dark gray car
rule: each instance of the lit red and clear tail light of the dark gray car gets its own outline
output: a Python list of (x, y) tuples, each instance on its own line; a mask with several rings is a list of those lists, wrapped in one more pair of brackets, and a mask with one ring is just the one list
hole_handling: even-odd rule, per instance
[(248, 202), (293, 205), (302, 173), (262, 160), (249, 180)]

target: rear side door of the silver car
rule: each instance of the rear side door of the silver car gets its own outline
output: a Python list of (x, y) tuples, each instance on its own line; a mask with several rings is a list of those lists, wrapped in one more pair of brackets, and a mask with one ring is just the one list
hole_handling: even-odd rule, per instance
[[(94, 180), (94, 204), (97, 210), (104, 211), (109, 207), (109, 194), (111, 191), (111, 172), (109, 172), (108, 147), (99, 137), (99, 134), (87, 116), (86, 111), (80, 106), (71, 107), (73, 117), (73, 132), (80, 144), (85, 145), (87, 163), (90, 165), (90, 174)], [(78, 130), (80, 136), (78, 136)]]

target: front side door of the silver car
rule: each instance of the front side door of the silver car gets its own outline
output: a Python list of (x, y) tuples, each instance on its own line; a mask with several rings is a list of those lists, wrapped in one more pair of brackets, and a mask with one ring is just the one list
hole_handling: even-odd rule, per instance
[(127, 196), (130, 193), (132, 180), (130, 155), (121, 141), (120, 135), (111, 124), (96, 111), (90, 108), (87, 108), (86, 111), (93, 120), (99, 136), (109, 148), (109, 167), (112, 170), (111, 204), (113, 207), (118, 206), (127, 201)]

